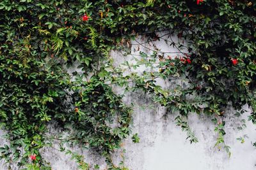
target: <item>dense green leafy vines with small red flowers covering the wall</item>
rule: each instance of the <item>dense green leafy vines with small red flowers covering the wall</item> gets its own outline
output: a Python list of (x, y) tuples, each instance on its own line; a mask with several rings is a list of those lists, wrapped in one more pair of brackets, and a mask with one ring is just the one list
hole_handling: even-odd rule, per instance
[[(10, 145), (1, 148), (1, 157), (10, 165), (47, 169), (38, 151), (51, 146), (44, 134), (48, 122), (56, 120), (70, 132), (64, 141), (97, 148), (109, 169), (118, 169), (109, 154), (131, 132), (131, 109), (109, 82), (129, 89), (130, 81), (134, 90), (143, 89), (157, 103), (179, 111), (177, 125), (191, 142), (197, 139), (186, 122), (188, 113), (212, 115), (216, 145), (229, 152), (223, 141), (224, 108), (231, 103), (236, 110), (244, 104), (256, 109), (255, 9), (253, 1), (238, 0), (2, 0), (0, 116)], [(152, 67), (143, 76), (123, 76), (124, 70), (111, 66), (110, 50), (131, 54), (131, 39), (145, 35), (147, 42), (157, 41), (163, 39), (159, 31), (178, 35), (178, 43), (165, 41), (182, 55), (157, 48), (141, 52), (137, 64), (126, 66)], [(81, 72), (68, 71), (75, 63)], [(176, 77), (186, 85), (164, 89), (156, 83), (157, 78), (172, 82)], [(256, 122), (255, 113), (250, 120)], [(139, 141), (137, 134), (133, 140)], [(81, 169), (89, 169), (81, 155), (67, 154)]]

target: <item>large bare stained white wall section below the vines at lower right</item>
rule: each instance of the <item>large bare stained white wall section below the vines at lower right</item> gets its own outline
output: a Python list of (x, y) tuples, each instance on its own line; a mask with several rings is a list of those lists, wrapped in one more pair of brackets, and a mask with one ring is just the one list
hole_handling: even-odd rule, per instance
[[(142, 97), (139, 100), (143, 101)], [(157, 107), (156, 111), (135, 110), (133, 131), (140, 134), (141, 141), (125, 145), (127, 164), (131, 169), (145, 170), (255, 169), (256, 150), (252, 146), (256, 139), (255, 125), (248, 122), (244, 131), (238, 131), (237, 125), (241, 118), (246, 119), (248, 113), (241, 118), (232, 116), (233, 110), (228, 110), (228, 113), (230, 116), (225, 118), (225, 142), (231, 147), (230, 158), (225, 151), (214, 147), (217, 136), (211, 118), (196, 114), (189, 116), (189, 125), (199, 140), (191, 145), (186, 140), (186, 132), (175, 126), (176, 114), (165, 115), (166, 110), (162, 107)], [(236, 138), (244, 134), (249, 138), (241, 144)]]

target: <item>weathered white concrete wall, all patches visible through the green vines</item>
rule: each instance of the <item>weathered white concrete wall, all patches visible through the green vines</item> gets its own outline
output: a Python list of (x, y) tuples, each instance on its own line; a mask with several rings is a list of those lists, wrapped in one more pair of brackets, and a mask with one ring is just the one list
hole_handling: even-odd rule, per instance
[[(179, 39), (172, 37), (175, 41)], [(138, 41), (143, 41), (138, 39)], [(132, 44), (136, 44), (132, 41)], [(155, 42), (157, 48), (164, 52), (178, 52), (176, 48), (166, 45), (164, 41)], [(140, 50), (150, 53), (150, 49), (154, 49), (152, 43), (140, 46)], [(132, 46), (132, 53), (138, 54), (138, 45)], [(132, 56), (124, 57), (120, 52), (112, 52), (114, 66), (128, 60), (132, 62)], [(172, 54), (173, 55), (173, 54)], [(179, 55), (175, 53), (174, 55)], [(143, 71), (145, 67), (140, 67), (139, 71)], [(159, 84), (170, 87), (170, 84), (165, 81), (160, 81)], [(120, 89), (115, 89), (116, 92), (122, 92)], [(256, 169), (256, 150), (252, 143), (256, 141), (256, 126), (252, 122), (246, 122), (246, 128), (239, 131), (237, 127), (241, 126), (241, 120), (248, 119), (250, 108), (244, 106), (248, 112), (241, 117), (235, 117), (236, 111), (232, 108), (227, 108), (225, 111), (224, 120), (226, 121), (225, 143), (231, 147), (231, 157), (224, 150), (218, 150), (214, 147), (217, 134), (214, 132), (214, 124), (211, 122), (211, 117), (205, 115), (189, 115), (189, 125), (195, 131), (199, 142), (190, 144), (186, 140), (186, 132), (182, 132), (180, 127), (175, 125), (174, 118), (177, 113), (170, 113), (166, 108), (152, 103), (147, 94), (143, 92), (129, 93), (124, 97), (124, 102), (127, 104), (134, 103), (134, 127), (132, 133), (138, 132), (140, 143), (132, 143), (131, 138), (126, 139), (122, 150), (116, 151), (113, 155), (113, 160), (118, 164), (120, 155), (125, 156), (125, 166), (132, 170), (236, 170)], [(60, 130), (51, 124), (51, 134), (59, 134)], [(1, 132), (2, 134), (4, 132)], [(242, 144), (236, 138), (247, 135), (248, 138)], [(0, 141), (3, 143), (2, 141)], [(58, 145), (56, 143), (56, 148)], [(99, 164), (100, 169), (106, 168), (104, 157), (93, 152), (92, 150), (81, 150), (81, 148), (72, 148), (72, 150), (85, 155), (86, 162), (90, 164)], [(74, 160), (70, 160), (70, 156), (63, 152), (52, 148), (43, 148), (41, 150), (45, 160), (47, 160), (54, 170), (77, 169)], [(3, 162), (2, 162), (3, 163)], [(6, 167), (0, 166), (0, 169)]]

